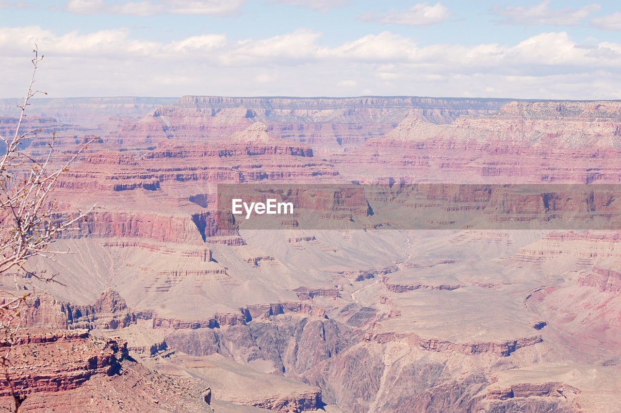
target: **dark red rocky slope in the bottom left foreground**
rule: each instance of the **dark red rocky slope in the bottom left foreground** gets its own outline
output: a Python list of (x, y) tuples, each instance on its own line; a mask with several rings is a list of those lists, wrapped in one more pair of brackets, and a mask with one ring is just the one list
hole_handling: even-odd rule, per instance
[[(88, 330), (30, 328), (12, 349), (7, 373), (22, 397), (20, 411), (212, 411), (210, 391), (149, 371), (129, 360), (127, 342)], [(3, 376), (0, 405), (13, 403)]]

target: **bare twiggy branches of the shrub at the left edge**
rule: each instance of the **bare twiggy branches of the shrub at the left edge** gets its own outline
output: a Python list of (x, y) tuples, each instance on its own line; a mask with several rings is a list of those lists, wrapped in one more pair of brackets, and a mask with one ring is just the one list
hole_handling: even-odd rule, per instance
[(10, 356), (12, 348), (19, 342), (20, 330), (27, 328), (24, 316), (27, 297), (31, 294), (30, 291), (24, 293), (23, 289), (19, 289), (19, 279), (30, 277), (46, 283), (64, 285), (56, 279), (58, 273), (51, 276), (39, 275), (26, 271), (25, 266), (35, 256), (55, 261), (55, 255), (70, 253), (53, 250), (50, 245), (64, 232), (74, 230), (76, 222), (86, 219), (93, 207), (84, 212), (60, 214), (57, 202), (50, 199), (50, 194), (61, 174), (81, 156), (89, 143), (97, 139), (88, 140), (68, 159), (63, 158), (66, 155), (63, 154), (60, 157), (63, 159), (60, 166), (53, 166), (53, 161), (59, 158), (55, 150), (55, 134), (52, 134), (44, 155), (32, 150), (29, 153), (25, 149), (24, 143), (37, 137), (37, 132), (42, 132), (39, 128), (22, 131), (26, 109), (34, 96), (47, 94), (34, 88), (43, 55), (39, 57), (36, 45), (33, 52), (32, 77), (24, 101), (17, 106), (20, 113), (15, 133), (12, 138), (0, 136), (6, 147), (0, 157), (0, 275), (13, 275), (16, 284), (15, 293), (3, 291), (4, 297), (0, 296), (0, 365), (4, 370), (4, 381), (14, 398), (16, 412), (22, 406), (25, 396), (12, 383)]

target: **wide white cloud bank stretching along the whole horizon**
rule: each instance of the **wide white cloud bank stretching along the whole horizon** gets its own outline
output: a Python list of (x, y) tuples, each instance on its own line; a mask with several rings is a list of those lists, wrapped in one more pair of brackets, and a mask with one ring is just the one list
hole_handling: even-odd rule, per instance
[(420, 45), (382, 32), (326, 45), (296, 30), (236, 42), (203, 34), (175, 42), (135, 37), (129, 29), (57, 33), (0, 28), (0, 89), (23, 94), (29, 56), (45, 54), (37, 87), (52, 96), (330, 96), (411, 94), (550, 99), (621, 98), (621, 43), (581, 45), (546, 32), (513, 45)]

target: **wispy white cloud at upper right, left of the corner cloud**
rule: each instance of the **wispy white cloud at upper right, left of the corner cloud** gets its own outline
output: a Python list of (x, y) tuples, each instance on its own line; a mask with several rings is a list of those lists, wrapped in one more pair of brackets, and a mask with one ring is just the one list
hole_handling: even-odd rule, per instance
[(532, 7), (510, 6), (494, 7), (492, 13), (503, 17), (502, 24), (512, 25), (580, 25), (582, 20), (598, 11), (599, 4), (589, 4), (581, 9), (550, 9), (550, 0), (544, 0)]

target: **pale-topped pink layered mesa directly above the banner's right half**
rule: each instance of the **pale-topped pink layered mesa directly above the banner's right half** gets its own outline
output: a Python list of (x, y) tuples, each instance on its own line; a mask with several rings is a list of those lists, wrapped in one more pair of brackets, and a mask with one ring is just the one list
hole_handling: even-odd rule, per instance
[(428, 139), (424, 134), (373, 138), (329, 160), (341, 176), (361, 183), (617, 183), (621, 173), (620, 148), (445, 139), (449, 132)]

